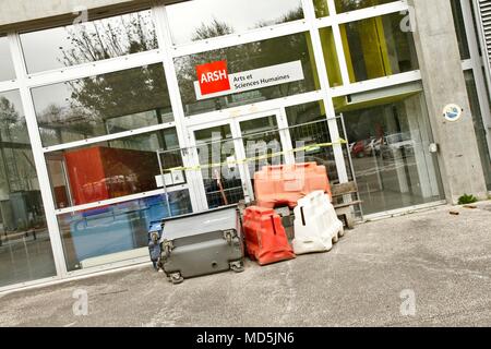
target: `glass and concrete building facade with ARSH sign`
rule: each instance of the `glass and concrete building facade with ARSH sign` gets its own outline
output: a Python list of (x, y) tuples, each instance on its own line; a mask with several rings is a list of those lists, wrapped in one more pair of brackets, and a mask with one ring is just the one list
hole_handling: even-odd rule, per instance
[(147, 262), (264, 165), (360, 217), (487, 198), (489, 2), (0, 0), (0, 291)]

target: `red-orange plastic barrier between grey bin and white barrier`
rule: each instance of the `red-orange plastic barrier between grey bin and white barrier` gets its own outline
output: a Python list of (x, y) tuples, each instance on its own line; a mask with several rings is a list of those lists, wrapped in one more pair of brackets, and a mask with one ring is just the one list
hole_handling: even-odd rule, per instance
[(243, 215), (243, 232), (248, 254), (260, 265), (295, 258), (282, 218), (273, 209), (248, 207)]

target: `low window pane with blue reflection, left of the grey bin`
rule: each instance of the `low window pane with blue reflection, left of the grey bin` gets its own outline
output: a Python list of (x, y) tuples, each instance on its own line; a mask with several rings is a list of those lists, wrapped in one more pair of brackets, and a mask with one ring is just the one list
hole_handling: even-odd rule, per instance
[(58, 216), (69, 270), (148, 256), (148, 228), (192, 212), (189, 191)]

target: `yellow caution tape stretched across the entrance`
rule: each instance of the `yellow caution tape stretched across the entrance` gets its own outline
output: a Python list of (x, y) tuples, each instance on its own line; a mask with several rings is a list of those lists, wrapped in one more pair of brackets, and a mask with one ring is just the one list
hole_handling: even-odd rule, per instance
[(216, 163), (216, 164), (208, 164), (208, 165), (199, 165), (199, 166), (190, 166), (190, 167), (172, 167), (169, 169), (164, 169), (164, 172), (173, 172), (173, 171), (200, 171), (203, 169), (209, 169), (209, 168), (216, 168), (216, 167), (223, 167), (223, 166), (236, 166), (236, 165), (243, 165), (243, 164), (248, 164), (248, 163), (253, 163), (253, 161), (260, 161), (260, 160), (267, 160), (274, 157), (278, 157), (282, 155), (285, 155), (287, 153), (300, 153), (300, 152), (312, 152), (312, 151), (318, 151), (321, 148), (327, 148), (334, 145), (338, 145), (338, 144), (348, 144), (348, 142), (346, 140), (339, 139), (338, 142), (333, 142), (333, 143), (319, 143), (319, 144), (312, 144), (312, 145), (306, 145), (299, 148), (295, 148), (291, 151), (284, 151), (284, 152), (277, 152), (277, 153), (273, 153), (273, 154), (265, 154), (265, 155), (261, 155), (261, 156), (255, 156), (255, 157), (250, 157), (250, 158), (246, 158), (242, 160), (235, 160), (235, 161), (224, 161), (224, 163)]

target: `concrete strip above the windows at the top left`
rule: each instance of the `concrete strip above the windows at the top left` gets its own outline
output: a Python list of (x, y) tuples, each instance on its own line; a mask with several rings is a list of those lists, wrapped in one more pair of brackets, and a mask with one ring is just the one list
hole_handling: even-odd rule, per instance
[(36, 27), (44, 23), (56, 24), (73, 17), (73, 12), (79, 7), (85, 7), (91, 14), (97, 15), (98, 12), (106, 13), (109, 10), (113, 12), (142, 8), (151, 2), (151, 0), (0, 0), (0, 31)]

